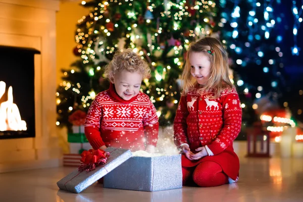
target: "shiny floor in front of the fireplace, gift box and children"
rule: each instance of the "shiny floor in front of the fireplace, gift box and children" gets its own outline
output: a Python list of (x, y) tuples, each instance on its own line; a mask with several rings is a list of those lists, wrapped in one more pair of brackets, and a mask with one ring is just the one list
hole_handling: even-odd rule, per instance
[(82, 193), (59, 190), (56, 182), (73, 168), (0, 174), (0, 201), (303, 201), (303, 159), (240, 159), (240, 179), (219, 187), (142, 192), (103, 188)]

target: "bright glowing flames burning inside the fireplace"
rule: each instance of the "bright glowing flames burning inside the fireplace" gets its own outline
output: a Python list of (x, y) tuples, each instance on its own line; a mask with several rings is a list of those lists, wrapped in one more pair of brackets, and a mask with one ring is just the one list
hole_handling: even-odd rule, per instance
[[(4, 95), (6, 83), (0, 81), (0, 98)], [(8, 90), (8, 100), (0, 104), (0, 131), (27, 130), (26, 122), (21, 120), (18, 106), (13, 103), (13, 87)]]

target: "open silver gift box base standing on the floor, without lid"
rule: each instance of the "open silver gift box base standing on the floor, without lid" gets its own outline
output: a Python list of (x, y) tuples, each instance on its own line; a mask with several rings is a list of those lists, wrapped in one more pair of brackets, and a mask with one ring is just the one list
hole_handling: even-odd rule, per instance
[(104, 187), (138, 191), (182, 188), (181, 155), (132, 157), (104, 177)]

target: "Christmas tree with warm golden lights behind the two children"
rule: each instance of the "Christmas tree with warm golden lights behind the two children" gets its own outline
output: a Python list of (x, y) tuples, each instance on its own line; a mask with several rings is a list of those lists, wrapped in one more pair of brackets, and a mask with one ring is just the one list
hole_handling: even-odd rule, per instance
[(160, 125), (172, 124), (186, 50), (190, 42), (220, 28), (217, 5), (204, 0), (95, 0), (82, 5), (90, 12), (77, 24), (74, 53), (79, 60), (63, 70), (57, 124), (68, 125), (72, 111), (88, 110), (96, 93), (108, 89), (104, 67), (123, 48), (132, 48), (150, 64), (152, 76), (142, 82), (142, 91), (158, 110)]

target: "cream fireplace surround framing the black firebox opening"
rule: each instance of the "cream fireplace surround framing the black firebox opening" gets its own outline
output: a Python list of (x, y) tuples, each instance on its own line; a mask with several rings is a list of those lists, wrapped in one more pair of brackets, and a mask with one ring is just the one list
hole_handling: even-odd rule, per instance
[(58, 10), (59, 1), (0, 0), (0, 45), (41, 52), (34, 62), (36, 136), (0, 139), (0, 173), (61, 165), (55, 96)]

